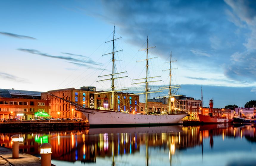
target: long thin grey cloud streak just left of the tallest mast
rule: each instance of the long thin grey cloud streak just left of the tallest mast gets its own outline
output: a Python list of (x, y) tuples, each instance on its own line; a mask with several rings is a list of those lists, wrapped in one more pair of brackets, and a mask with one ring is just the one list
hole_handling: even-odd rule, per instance
[[(43, 52), (40, 52), (40, 51), (34, 50), (34, 49), (18, 48), (17, 50), (23, 51), (23, 52), (28, 52), (28, 53), (31, 53), (31, 54), (41, 55), (41, 56), (49, 57), (49, 58), (68, 60), (69, 62), (73, 62), (73, 63), (77, 62), (77, 63), (81, 63), (81, 64), (88, 63), (88, 64), (93, 64), (93, 65), (102, 65), (101, 63), (95, 62), (91, 58), (85, 57), (83, 55), (75, 55), (75, 54), (71, 54), (71, 53), (63, 53), (63, 54), (75, 55), (75, 56), (83, 57), (83, 59), (77, 59), (77, 58), (71, 58), (71, 57), (65, 57), (65, 56), (49, 55), (47, 53), (43, 53)], [(84, 60), (84, 58), (86, 58), (86, 59)], [(86, 67), (88, 65), (82, 65), (82, 66)]]

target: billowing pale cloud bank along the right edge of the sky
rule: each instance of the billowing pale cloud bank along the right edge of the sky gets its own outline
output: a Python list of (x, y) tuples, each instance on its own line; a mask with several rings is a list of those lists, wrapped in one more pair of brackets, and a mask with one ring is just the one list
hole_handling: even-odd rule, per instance
[[(245, 49), (230, 56), (230, 63), (224, 68), (224, 74), (234, 80), (256, 81), (256, 1), (225, 0), (229, 5), (230, 20), (238, 27), (248, 27), (243, 43)], [(241, 24), (246, 26), (241, 26)]]

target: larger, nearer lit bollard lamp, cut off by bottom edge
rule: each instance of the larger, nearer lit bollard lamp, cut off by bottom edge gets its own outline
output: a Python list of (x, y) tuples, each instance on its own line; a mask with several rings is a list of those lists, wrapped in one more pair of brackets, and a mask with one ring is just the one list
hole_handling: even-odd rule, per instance
[(51, 144), (43, 143), (40, 146), (41, 166), (51, 166)]

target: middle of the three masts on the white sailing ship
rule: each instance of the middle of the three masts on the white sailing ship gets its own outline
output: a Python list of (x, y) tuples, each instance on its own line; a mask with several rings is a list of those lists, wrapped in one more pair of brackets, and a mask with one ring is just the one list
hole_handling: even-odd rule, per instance
[[(157, 58), (157, 57), (148, 58), (149, 49), (152, 49), (152, 48), (155, 48), (155, 46), (154, 46), (154, 47), (149, 47), (149, 35), (148, 35), (148, 36), (147, 36), (147, 48), (140, 50), (140, 51), (146, 50), (146, 59), (144, 59), (144, 60), (146, 60), (146, 78), (141, 78), (141, 79), (145, 79), (145, 82), (133, 83), (133, 84), (142, 84), (142, 83), (145, 84), (145, 92), (136, 93), (136, 94), (133, 94), (133, 95), (145, 94), (146, 101), (145, 101), (144, 114), (146, 114), (146, 115), (149, 114), (149, 111), (148, 111), (148, 94), (149, 94), (149, 93), (156, 93), (156, 92), (163, 92), (163, 91), (149, 92), (149, 85), (148, 85), (149, 82), (160, 82), (160, 81), (161, 81), (161, 80), (157, 80), (157, 81), (148, 81), (148, 79), (161, 77), (161, 76), (148, 77), (148, 74), (149, 74), (149, 60), (150, 60), (150, 59)], [(140, 61), (144, 61), (144, 60), (140, 60)], [(140, 61), (136, 61), (136, 62), (140, 62)], [(133, 79), (132, 81), (141, 80), (141, 79)], [(128, 96), (129, 96), (129, 95), (128, 95)]]

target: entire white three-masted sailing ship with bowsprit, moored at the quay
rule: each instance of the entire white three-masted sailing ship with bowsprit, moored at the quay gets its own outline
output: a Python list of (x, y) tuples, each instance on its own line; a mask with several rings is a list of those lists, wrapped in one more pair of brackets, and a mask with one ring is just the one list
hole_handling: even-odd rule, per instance
[[(117, 38), (119, 39), (119, 38)], [(123, 78), (123, 77), (114, 77), (118, 74), (121, 73), (125, 73), (125, 72), (121, 72), (121, 73), (115, 73), (114, 72), (114, 66), (115, 66), (115, 53), (119, 52), (119, 51), (115, 51), (114, 50), (114, 42), (115, 42), (115, 26), (114, 26), (114, 31), (113, 31), (113, 40), (110, 40), (113, 42), (113, 49), (111, 53), (108, 54), (112, 54), (112, 73), (108, 74), (108, 75), (104, 75), (104, 76), (111, 76), (110, 79), (104, 79), (104, 80), (100, 80), (100, 81), (105, 81), (105, 80), (111, 80), (111, 91), (104, 91), (104, 92), (97, 92), (94, 94), (100, 94), (100, 93), (112, 93), (112, 97), (111, 97), (111, 105), (110, 105), (110, 109), (109, 110), (100, 110), (100, 109), (96, 109), (96, 108), (84, 108), (83, 106), (80, 106), (76, 103), (72, 103), (68, 100), (68, 102), (71, 103), (71, 105), (75, 106), (77, 110), (81, 111), (86, 118), (89, 121), (89, 125), (90, 126), (105, 126), (105, 125), (129, 125), (129, 126), (139, 126), (139, 125), (171, 125), (171, 124), (179, 124), (182, 123), (182, 119), (187, 116), (187, 114), (185, 112), (179, 112), (179, 113), (171, 113), (171, 111), (169, 111), (169, 113), (165, 113), (165, 114), (149, 114), (148, 112), (148, 105), (147, 105), (147, 96), (149, 93), (149, 88), (148, 88), (148, 83), (151, 81), (148, 81), (148, 79), (150, 79), (151, 77), (148, 77), (148, 60), (151, 58), (148, 58), (148, 50), (150, 49), (148, 47), (149, 44), (149, 40), (147, 38), (147, 48), (146, 50), (146, 78), (143, 78), (145, 80), (145, 92), (142, 93), (138, 93), (138, 94), (145, 94), (146, 96), (146, 106), (145, 109), (143, 111), (143, 114), (130, 114), (127, 112), (122, 112), (120, 110), (114, 110), (114, 99), (115, 99), (115, 93), (116, 92), (120, 92), (123, 90), (128, 90), (128, 89), (121, 89), (121, 90), (115, 90), (115, 79), (119, 79), (119, 78)], [(121, 50), (120, 50), (121, 51)], [(108, 55), (108, 54), (104, 54), (104, 55)], [(171, 62), (170, 62), (171, 63)], [(171, 70), (171, 68), (170, 68)], [(170, 72), (171, 73), (171, 72)], [(171, 76), (171, 75), (170, 75)], [(102, 77), (102, 76), (99, 76)], [(138, 80), (138, 79), (137, 79)], [(136, 84), (136, 83), (135, 83)], [(171, 89), (172, 87), (169, 86), (169, 89)], [(52, 95), (52, 94), (50, 94)], [(137, 95), (137, 94), (132, 94), (132, 95)], [(57, 96), (55, 96), (57, 97)], [(171, 100), (171, 93), (169, 93), (169, 100)], [(65, 100), (62, 98), (62, 100)], [(169, 101), (170, 103), (171, 101)]]

